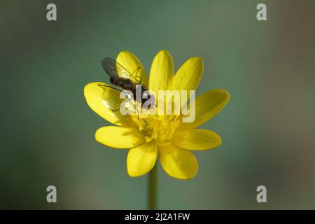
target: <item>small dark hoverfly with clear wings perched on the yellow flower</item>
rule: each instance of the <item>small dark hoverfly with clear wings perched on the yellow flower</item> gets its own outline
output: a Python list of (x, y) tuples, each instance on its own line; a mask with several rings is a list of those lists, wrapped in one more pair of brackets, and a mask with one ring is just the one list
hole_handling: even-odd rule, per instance
[[(109, 75), (109, 80), (113, 85), (120, 87), (123, 90), (129, 90), (133, 94), (133, 99), (138, 104), (141, 104), (141, 107), (145, 102), (155, 102), (153, 94), (148, 92), (148, 87), (141, 84), (141, 77), (137, 76), (137, 73), (140, 69), (136, 69), (133, 73), (127, 71), (123, 65), (116, 62), (114, 59), (105, 57), (102, 60), (102, 67)], [(111, 87), (109, 85), (104, 85), (104, 87)], [(115, 90), (115, 87), (111, 87)], [(119, 90), (122, 91), (122, 90)], [(137, 97), (137, 92), (141, 92), (141, 97)], [(151, 104), (150, 104), (151, 105)], [(137, 108), (137, 107), (136, 107)], [(113, 110), (118, 111), (119, 109)]]

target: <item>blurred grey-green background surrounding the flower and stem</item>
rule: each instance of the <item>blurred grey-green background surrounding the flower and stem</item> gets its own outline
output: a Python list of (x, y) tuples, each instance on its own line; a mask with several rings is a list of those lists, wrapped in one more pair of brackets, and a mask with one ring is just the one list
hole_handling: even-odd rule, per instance
[[(57, 21), (46, 5), (57, 5)], [(258, 3), (267, 21), (256, 20)], [(0, 2), (1, 209), (146, 209), (147, 176), (127, 151), (94, 141), (109, 125), (83, 87), (107, 81), (104, 57), (130, 50), (147, 71), (167, 49), (175, 69), (204, 59), (197, 94), (229, 104), (202, 127), (223, 145), (196, 152), (195, 179), (159, 164), (160, 209), (315, 209), (315, 1)], [(46, 187), (57, 187), (57, 204)], [(256, 188), (267, 187), (267, 203)]]

